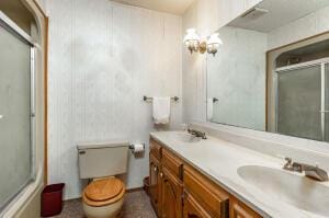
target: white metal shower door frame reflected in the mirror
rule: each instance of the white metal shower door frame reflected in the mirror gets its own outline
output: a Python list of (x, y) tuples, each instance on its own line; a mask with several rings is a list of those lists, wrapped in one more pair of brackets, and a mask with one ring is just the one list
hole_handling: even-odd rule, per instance
[[(279, 73), (284, 72), (288, 73), (292, 70), (297, 70), (297, 69), (305, 69), (308, 67), (315, 67), (319, 66), (320, 67), (320, 73), (321, 73), (321, 108), (319, 113), (321, 114), (321, 140), (325, 141), (326, 139), (326, 114), (329, 113), (329, 111), (326, 111), (326, 65), (329, 64), (329, 58), (321, 58), (317, 60), (311, 60), (307, 62), (302, 62), (302, 64), (296, 64), (296, 65), (291, 65), (286, 67), (281, 67), (275, 69), (275, 77), (276, 77), (276, 82), (275, 82), (275, 131), (277, 133), (277, 126), (279, 126)], [(328, 76), (327, 76), (328, 77)]]

